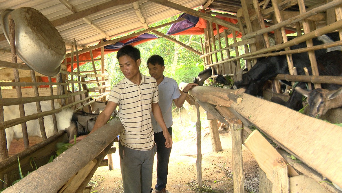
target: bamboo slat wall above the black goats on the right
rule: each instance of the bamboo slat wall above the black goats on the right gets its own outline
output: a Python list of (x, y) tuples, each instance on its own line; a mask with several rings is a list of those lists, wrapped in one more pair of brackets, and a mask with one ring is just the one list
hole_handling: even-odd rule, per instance
[[(258, 3), (257, 1), (249, 1), (249, 0), (242, 0), (241, 4), (243, 5), (243, 9), (240, 9), (238, 11), (237, 19), (238, 19), (238, 26), (240, 28), (240, 31), (242, 33), (241, 39), (234, 37), (234, 30), (228, 30), (222, 32), (220, 35), (216, 35), (213, 38), (213, 29), (208, 28), (206, 29), (208, 32), (205, 33), (205, 38), (206, 41), (204, 43), (204, 46), (206, 49), (204, 49), (203, 55), (201, 55), (201, 58), (206, 58), (205, 61), (208, 61), (206, 63), (206, 68), (208, 67), (219, 67), (221, 68), (222, 64), (226, 64), (224, 66), (224, 69), (222, 69), (221, 73), (223, 75), (228, 75), (228, 76), (233, 76), (232, 69), (235, 69), (232, 67), (232, 65), (235, 65), (234, 63), (231, 63), (232, 61), (235, 61), (237, 63), (237, 67), (240, 68), (242, 64), (240, 64), (240, 60), (244, 61), (243, 65), (247, 65), (247, 69), (250, 70), (250, 68), (255, 64), (257, 58), (260, 57), (268, 57), (268, 56), (279, 56), (279, 55), (286, 55), (288, 57), (288, 63), (289, 65), (289, 71), (290, 74), (293, 75), (291, 76), (291, 80), (293, 81), (298, 81), (301, 80), (303, 82), (311, 82), (311, 78), (304, 78), (301, 76), (296, 77), (295, 72), (293, 72), (293, 64), (291, 65), (292, 59), (291, 54), (293, 53), (301, 53), (301, 52), (308, 52), (311, 60), (311, 65), (313, 73), (315, 77), (318, 75), (318, 71), (315, 70), (317, 69), (317, 64), (316, 60), (314, 57), (314, 50), (318, 49), (326, 49), (326, 48), (331, 48), (335, 46), (341, 46), (341, 41), (336, 41), (332, 43), (326, 43), (323, 45), (318, 45), (318, 46), (313, 46), (312, 43), (310, 43), (312, 38), (318, 37), (320, 35), (324, 35), (326, 33), (338, 31), (342, 28), (342, 21), (340, 20), (339, 16), (336, 16), (336, 20), (331, 20), (328, 19), (329, 21), (326, 21), (329, 25), (326, 25), (324, 27), (309, 27), (308, 25), (308, 18), (310, 17), (311, 20), (317, 20), (318, 18), (323, 18), (326, 19), (326, 17), (315, 17), (314, 19), (312, 18), (316, 14), (319, 14), (320, 12), (324, 12), (327, 10), (331, 10), (333, 8), (337, 8), (342, 4), (342, 0), (335, 0), (331, 2), (327, 2), (326, 4), (321, 4), (319, 6), (314, 6), (313, 8), (307, 8), (305, 10), (304, 2), (302, 0), (299, 1), (283, 1), (283, 2), (278, 2), (274, 1), (273, 2), (273, 7), (268, 8), (268, 9), (260, 9), (258, 8), (253, 8), (253, 11), (247, 11), (249, 8), (249, 3), (254, 3), (254, 6), (257, 6)], [(245, 5), (244, 5), (245, 4)], [(300, 7), (301, 11), (299, 13), (292, 13), (294, 16), (292, 17), (285, 17), (283, 14), (281, 14), (280, 10), (284, 10), (290, 6), (293, 6), (294, 4), (298, 4)], [(246, 8), (244, 7), (246, 6)], [(262, 7), (262, 5), (260, 6)], [(250, 8), (251, 9), (251, 8)], [(211, 12), (213, 13), (213, 12)], [(251, 13), (254, 13), (252, 15), (249, 15)], [(268, 16), (271, 14), (276, 15), (276, 23), (271, 24), (269, 27), (265, 27), (264, 24), (264, 18), (269, 18)], [(331, 15), (330, 15), (331, 16)], [(284, 19), (282, 19), (284, 17)], [(253, 24), (254, 20), (258, 20), (259, 26), (255, 26)], [(251, 22), (252, 21), (252, 22)], [(323, 21), (320, 21), (320, 23)], [(332, 23), (333, 22), (333, 23)], [(314, 23), (314, 22), (312, 22)], [(211, 26), (211, 25), (210, 25)], [(312, 25), (311, 25), (312, 26)], [(297, 32), (303, 32), (304, 34), (298, 34), (297, 38), (287, 40), (286, 34), (285, 34), (285, 29), (292, 28), (293, 31)], [(294, 28), (297, 27), (297, 28)], [(301, 28), (304, 27), (304, 30)], [(316, 29), (317, 28), (317, 29)], [(269, 38), (269, 32), (275, 31), (277, 32), (278, 30), (282, 31), (281, 36), (281, 41), (282, 43), (276, 44), (276, 45), (270, 45)], [(247, 32), (247, 33), (246, 33)], [(228, 45), (227, 41), (221, 40), (222, 37), (226, 37), (227, 34), (233, 33), (233, 39), (234, 43), (231, 45)], [(277, 34), (276, 34), (277, 35)], [(213, 40), (214, 39), (214, 40)], [(260, 46), (260, 41), (263, 42), (263, 46)], [(302, 42), (308, 42), (307, 48), (300, 48), (300, 49), (295, 49), (295, 50), (290, 50), (288, 49), (290, 46), (297, 45)], [(238, 49), (238, 47), (243, 46), (245, 49)], [(235, 57), (229, 56), (232, 53), (232, 49), (234, 48), (235, 50)], [(249, 49), (248, 49), (249, 48)], [(279, 52), (272, 52), (276, 50), (281, 50), (285, 49), (285, 51), (279, 51)], [(223, 52), (226, 50), (227, 52)], [(230, 50), (230, 51), (229, 51)], [(243, 50), (243, 51), (241, 51)], [(218, 53), (220, 52), (221, 57), (218, 59)], [(220, 73), (220, 71), (219, 71)], [(279, 80), (285, 80), (284, 75), (279, 75), (276, 77), (276, 79)], [(336, 82), (339, 82), (337, 84), (340, 84), (341, 78), (337, 77)], [(332, 83), (330, 82), (331, 79), (329, 80), (324, 80), (322, 78), (322, 81), (318, 81), (321, 83)], [(317, 81), (314, 81), (312, 83), (315, 83), (315, 87), (319, 87), (320, 84)]]

